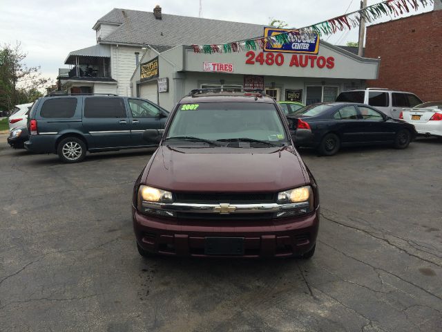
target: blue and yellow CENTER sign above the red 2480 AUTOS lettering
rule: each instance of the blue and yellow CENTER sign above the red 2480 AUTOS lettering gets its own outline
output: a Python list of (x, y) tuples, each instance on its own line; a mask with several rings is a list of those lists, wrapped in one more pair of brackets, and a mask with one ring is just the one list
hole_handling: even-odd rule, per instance
[(289, 39), (288, 44), (273, 44), (268, 43), (264, 50), (266, 52), (285, 52), (285, 53), (309, 53), (318, 54), (319, 37), (316, 33), (300, 34), (298, 30), (292, 29), (278, 29), (278, 28), (264, 28), (264, 37), (271, 37), (280, 33), (287, 33)]

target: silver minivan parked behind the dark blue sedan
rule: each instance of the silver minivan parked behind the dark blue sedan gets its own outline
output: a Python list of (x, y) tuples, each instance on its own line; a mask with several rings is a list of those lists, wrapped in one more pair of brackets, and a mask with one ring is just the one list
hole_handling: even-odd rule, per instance
[(398, 119), (404, 108), (422, 104), (414, 93), (389, 89), (367, 88), (341, 92), (336, 102), (359, 102), (376, 107), (391, 118)]

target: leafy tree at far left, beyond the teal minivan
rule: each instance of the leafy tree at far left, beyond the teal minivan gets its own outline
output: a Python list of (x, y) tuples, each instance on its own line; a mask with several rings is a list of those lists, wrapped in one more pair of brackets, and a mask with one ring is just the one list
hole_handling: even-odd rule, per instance
[(17, 104), (33, 102), (42, 94), (50, 80), (41, 77), (40, 67), (28, 67), (24, 60), (28, 54), (21, 44), (0, 46), (0, 109), (9, 110)]

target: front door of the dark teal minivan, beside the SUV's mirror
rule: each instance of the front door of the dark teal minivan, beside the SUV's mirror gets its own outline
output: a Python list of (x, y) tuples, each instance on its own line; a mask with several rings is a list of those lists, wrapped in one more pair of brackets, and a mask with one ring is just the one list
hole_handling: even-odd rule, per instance
[(164, 115), (161, 109), (148, 100), (129, 98), (129, 109), (131, 110), (131, 145), (150, 145), (143, 140), (143, 131), (146, 129), (164, 128)]

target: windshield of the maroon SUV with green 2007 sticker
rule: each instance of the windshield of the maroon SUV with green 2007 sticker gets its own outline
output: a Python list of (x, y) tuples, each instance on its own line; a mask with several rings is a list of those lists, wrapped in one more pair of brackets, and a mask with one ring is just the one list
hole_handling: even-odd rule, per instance
[(258, 102), (180, 104), (167, 138), (184, 136), (212, 141), (287, 142), (276, 107)]

